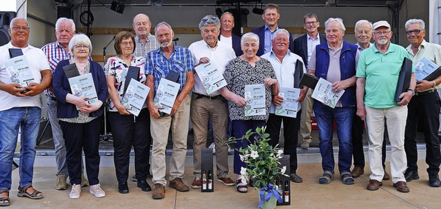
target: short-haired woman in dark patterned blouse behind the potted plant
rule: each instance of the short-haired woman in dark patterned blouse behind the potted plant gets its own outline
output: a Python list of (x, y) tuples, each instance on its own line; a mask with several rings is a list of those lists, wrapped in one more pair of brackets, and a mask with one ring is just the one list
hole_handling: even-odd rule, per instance
[[(278, 83), (274, 69), (269, 61), (256, 56), (259, 48), (259, 37), (249, 32), (240, 39), (240, 47), (243, 55), (232, 60), (226, 67), (223, 76), (227, 81), (227, 87), (220, 90), (229, 106), (229, 118), (232, 120), (234, 137), (240, 138), (249, 129), (265, 126), (269, 116), (271, 95), (278, 94)], [(265, 85), (265, 115), (245, 116), (245, 85)], [(251, 139), (254, 140), (254, 139)], [(240, 175), (240, 168), (247, 164), (240, 160), (239, 148), (245, 148), (247, 140), (237, 141), (234, 149), (234, 173), (238, 174), (236, 181), (238, 192), (247, 192), (247, 179)]]

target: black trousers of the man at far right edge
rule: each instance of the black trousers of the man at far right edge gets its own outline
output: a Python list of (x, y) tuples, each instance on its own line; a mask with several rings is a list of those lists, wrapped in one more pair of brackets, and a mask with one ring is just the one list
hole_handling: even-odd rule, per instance
[[(409, 170), (418, 170), (418, 151), (416, 148), (417, 123), (424, 123), (424, 142), (426, 142), (426, 163), (429, 165), (427, 172), (440, 171), (441, 153), (438, 129), (440, 127), (440, 96), (437, 91), (413, 96), (407, 104), (407, 122), (404, 132), (404, 149), (407, 156)], [(419, 117), (422, 116), (422, 117)], [(422, 120), (417, 120), (421, 118)], [(417, 122), (418, 121), (418, 122)]]

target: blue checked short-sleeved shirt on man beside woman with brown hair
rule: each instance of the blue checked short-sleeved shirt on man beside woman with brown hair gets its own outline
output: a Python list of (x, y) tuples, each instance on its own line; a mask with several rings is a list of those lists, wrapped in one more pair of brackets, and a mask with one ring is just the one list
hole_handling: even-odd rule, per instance
[(159, 81), (165, 78), (170, 70), (179, 72), (178, 83), (181, 84), (182, 90), (187, 80), (186, 73), (192, 72), (194, 63), (192, 52), (185, 47), (174, 46), (174, 50), (170, 55), (170, 60), (167, 59), (165, 53), (161, 48), (149, 52), (145, 60), (145, 74), (154, 76), (154, 91), (158, 89)]

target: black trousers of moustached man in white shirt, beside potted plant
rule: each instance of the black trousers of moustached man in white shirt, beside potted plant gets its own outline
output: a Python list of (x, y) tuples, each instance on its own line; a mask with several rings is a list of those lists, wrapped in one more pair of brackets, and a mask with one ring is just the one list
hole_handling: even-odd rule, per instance
[(300, 112), (297, 113), (297, 118), (289, 118), (269, 113), (267, 121), (267, 133), (271, 137), (269, 143), (272, 146), (278, 144), (280, 135), (280, 126), (283, 120), (283, 137), (285, 138), (285, 146), (283, 153), (289, 155), (289, 169), (291, 173), (296, 173), (297, 170), (297, 144), (298, 144), (298, 129), (300, 129)]

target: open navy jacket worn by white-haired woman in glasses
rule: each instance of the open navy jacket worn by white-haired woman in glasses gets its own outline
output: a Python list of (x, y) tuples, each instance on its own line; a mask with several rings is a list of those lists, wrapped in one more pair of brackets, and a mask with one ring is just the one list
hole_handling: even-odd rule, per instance
[[(99, 117), (104, 113), (105, 100), (107, 98), (107, 82), (103, 67), (94, 61), (90, 62), (90, 73), (94, 80), (96, 94), (98, 99), (103, 102), (103, 105), (96, 111), (89, 113), (90, 117)], [(66, 102), (66, 96), (72, 94), (70, 90), (69, 80), (63, 70), (63, 67), (69, 65), (69, 60), (64, 60), (58, 63), (52, 78), (52, 88), (54, 95), (57, 98), (57, 118), (76, 118), (78, 117), (78, 110), (75, 104)]]

